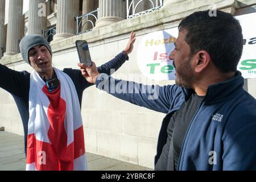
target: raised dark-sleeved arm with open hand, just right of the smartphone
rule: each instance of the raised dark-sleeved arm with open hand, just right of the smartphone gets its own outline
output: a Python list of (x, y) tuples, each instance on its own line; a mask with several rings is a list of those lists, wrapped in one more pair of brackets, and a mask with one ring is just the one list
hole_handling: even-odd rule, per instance
[[(129, 60), (128, 55), (133, 51), (135, 40), (136, 34), (135, 32), (131, 32), (126, 48), (117, 56), (115, 56), (114, 59), (98, 67), (98, 72), (110, 75), (111, 73), (117, 71), (122, 66), (122, 64), (125, 63), (126, 60)], [(113, 69), (112, 72), (110, 71), (111, 69)]]

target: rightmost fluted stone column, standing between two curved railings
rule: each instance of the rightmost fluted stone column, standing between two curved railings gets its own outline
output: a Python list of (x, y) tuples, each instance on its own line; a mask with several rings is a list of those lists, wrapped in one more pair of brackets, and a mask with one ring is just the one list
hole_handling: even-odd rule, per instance
[(126, 2), (120, 0), (99, 0), (96, 27), (104, 27), (125, 19)]

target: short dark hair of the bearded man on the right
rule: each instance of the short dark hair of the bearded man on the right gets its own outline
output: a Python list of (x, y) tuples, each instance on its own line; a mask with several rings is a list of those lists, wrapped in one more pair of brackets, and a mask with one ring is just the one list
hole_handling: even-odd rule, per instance
[(222, 73), (235, 72), (243, 50), (242, 27), (232, 14), (216, 10), (197, 11), (179, 24), (179, 31), (186, 31), (185, 41), (191, 55), (204, 50)]

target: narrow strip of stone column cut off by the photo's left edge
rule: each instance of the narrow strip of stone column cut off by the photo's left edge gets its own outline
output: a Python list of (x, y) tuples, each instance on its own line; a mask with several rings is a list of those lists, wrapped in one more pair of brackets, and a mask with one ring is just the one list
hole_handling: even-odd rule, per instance
[(3, 39), (5, 32), (5, 0), (0, 0), (0, 59), (2, 58)]

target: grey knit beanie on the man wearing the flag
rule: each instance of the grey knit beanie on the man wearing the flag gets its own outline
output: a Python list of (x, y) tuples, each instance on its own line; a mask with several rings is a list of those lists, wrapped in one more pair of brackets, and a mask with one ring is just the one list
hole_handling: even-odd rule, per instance
[(35, 35), (26, 35), (20, 41), (20, 43), (19, 43), (20, 53), (21, 53), (24, 61), (26, 61), (26, 63), (30, 64), (30, 61), (28, 60), (28, 51), (30, 51), (30, 49), (32, 47), (39, 46), (39, 45), (46, 46), (52, 55), (51, 46), (49, 45), (47, 40), (41, 35), (36, 35), (36, 34)]

